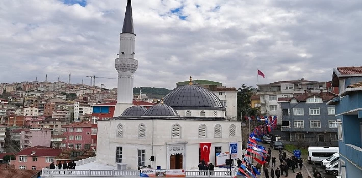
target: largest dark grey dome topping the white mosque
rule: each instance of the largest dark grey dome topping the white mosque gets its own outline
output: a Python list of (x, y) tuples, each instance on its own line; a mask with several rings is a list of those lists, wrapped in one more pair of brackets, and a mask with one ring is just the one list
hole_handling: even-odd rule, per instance
[(175, 88), (163, 100), (165, 104), (176, 110), (226, 111), (220, 99), (214, 93), (204, 87), (192, 84)]

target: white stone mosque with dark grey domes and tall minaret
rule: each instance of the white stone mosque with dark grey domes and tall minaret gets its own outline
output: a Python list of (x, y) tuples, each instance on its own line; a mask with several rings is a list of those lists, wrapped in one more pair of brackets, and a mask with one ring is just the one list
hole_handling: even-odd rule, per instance
[[(98, 121), (96, 162), (122, 169), (160, 166), (197, 169), (201, 153), (215, 163), (216, 153), (241, 149), (241, 123), (225, 118), (220, 99), (206, 88), (190, 84), (175, 88), (149, 109), (132, 105), (135, 36), (131, 0), (127, 1), (120, 34), (117, 104), (113, 118)], [(208, 143), (200, 148), (200, 143)], [(208, 146), (210, 145), (210, 146)], [(241, 152), (238, 152), (238, 157)]]

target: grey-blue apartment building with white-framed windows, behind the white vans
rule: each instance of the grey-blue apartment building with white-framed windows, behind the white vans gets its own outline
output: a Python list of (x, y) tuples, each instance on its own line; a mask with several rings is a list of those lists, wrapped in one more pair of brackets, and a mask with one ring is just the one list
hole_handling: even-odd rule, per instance
[(337, 94), (326, 92), (278, 98), (282, 112), (281, 131), (289, 135), (288, 141), (300, 142), (299, 146), (337, 146), (335, 107), (327, 102)]

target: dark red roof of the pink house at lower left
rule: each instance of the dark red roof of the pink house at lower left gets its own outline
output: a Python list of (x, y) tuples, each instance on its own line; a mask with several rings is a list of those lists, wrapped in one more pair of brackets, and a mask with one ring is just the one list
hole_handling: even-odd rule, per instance
[[(32, 152), (35, 152), (32, 154)], [(27, 155), (27, 156), (51, 156), (56, 157), (62, 153), (62, 149), (52, 149), (50, 147), (35, 146), (24, 149), (15, 155)]]

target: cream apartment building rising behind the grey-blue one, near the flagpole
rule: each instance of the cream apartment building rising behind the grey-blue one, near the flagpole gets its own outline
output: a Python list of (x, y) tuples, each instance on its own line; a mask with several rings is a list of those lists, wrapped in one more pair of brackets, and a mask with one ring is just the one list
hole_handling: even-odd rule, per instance
[[(318, 93), (320, 88), (323, 88), (326, 92), (331, 92), (332, 88), (327, 88), (327, 83), (330, 82), (309, 81), (301, 78), (298, 80), (278, 81), (257, 85), (261, 114), (281, 118), (282, 112), (278, 104), (278, 98), (291, 98), (304, 93), (305, 90), (308, 93)], [(282, 120), (278, 119), (277, 124), (281, 125)]]

